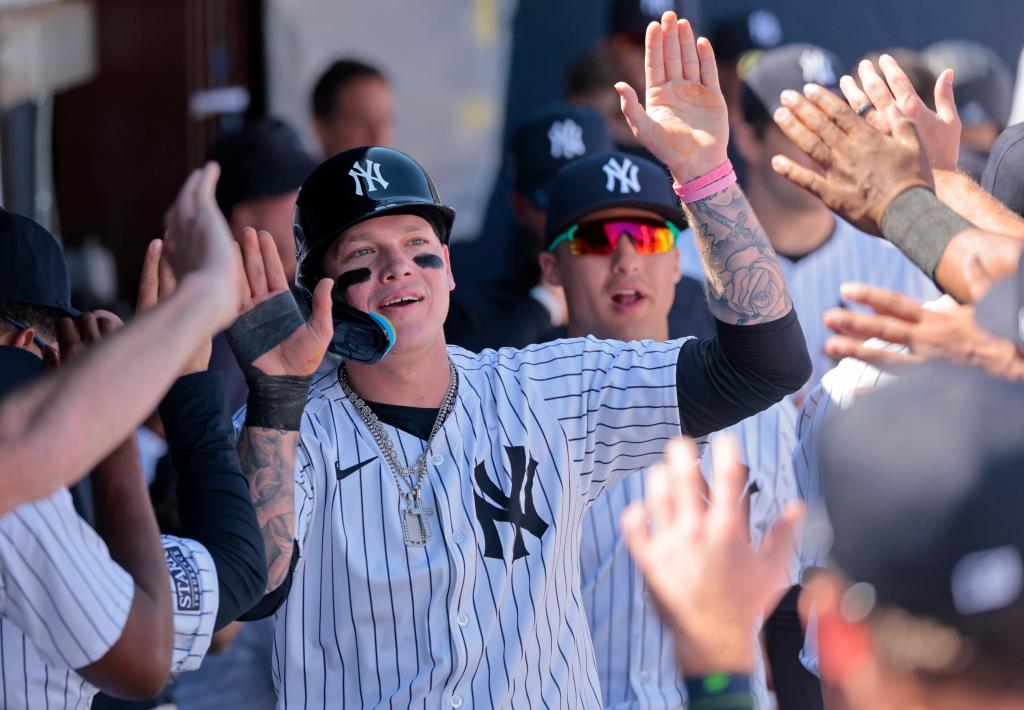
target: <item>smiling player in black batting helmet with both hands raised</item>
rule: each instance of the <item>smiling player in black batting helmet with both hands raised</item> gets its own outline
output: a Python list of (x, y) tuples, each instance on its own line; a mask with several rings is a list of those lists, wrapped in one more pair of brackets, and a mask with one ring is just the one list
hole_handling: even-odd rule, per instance
[[(774, 252), (722, 169), (711, 45), (668, 12), (646, 56), (646, 110), (616, 88), (638, 139), (693, 200), (715, 338), (447, 347), (454, 213), (386, 149), (335, 156), (300, 190), (308, 324), (286, 326), (269, 238), (243, 244), (257, 307), (236, 333), (250, 384), (239, 448), (269, 563), (251, 615), (276, 612), (279, 705), (600, 707), (584, 512), (666, 437), (750, 416), (810, 374)], [(610, 170), (608, 189), (634, 177)], [(374, 310), (393, 346), (360, 362), (387, 347), (364, 347)], [(341, 362), (324, 358), (329, 345)]]

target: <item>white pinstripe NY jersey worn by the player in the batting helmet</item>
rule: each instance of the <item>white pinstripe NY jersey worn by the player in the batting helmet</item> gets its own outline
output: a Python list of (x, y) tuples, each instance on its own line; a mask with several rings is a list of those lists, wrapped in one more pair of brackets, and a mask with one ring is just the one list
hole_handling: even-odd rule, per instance
[[(679, 433), (682, 342), (450, 347), (459, 390), (427, 458), (422, 547), (407, 546), (391, 471), (326, 361), (296, 455), (279, 706), (601, 707), (583, 514)], [(412, 464), (425, 443), (383, 426)]]

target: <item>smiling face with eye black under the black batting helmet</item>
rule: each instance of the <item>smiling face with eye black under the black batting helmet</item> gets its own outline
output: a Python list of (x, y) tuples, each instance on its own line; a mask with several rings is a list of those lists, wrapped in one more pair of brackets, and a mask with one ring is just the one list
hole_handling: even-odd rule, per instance
[[(415, 258), (424, 255), (439, 258), (440, 267), (423, 259), (424, 265), (418, 264)], [(424, 370), (439, 370), (440, 377), (428, 379), (436, 379), (443, 394), (447, 385), (443, 326), (449, 294), (455, 288), (449, 248), (422, 217), (409, 214), (375, 217), (342, 232), (324, 257), (324, 272), (332, 278), (361, 268), (370, 269), (370, 279), (348, 286), (348, 303), (359, 310), (376, 310), (386, 317), (394, 326), (395, 345), (377, 365), (349, 364), (353, 386), (359, 391), (360, 377), (379, 380), (390, 375), (395, 381), (412, 373), (420, 372), (423, 377)], [(394, 390), (394, 386), (382, 388), (381, 399), (375, 401), (417, 406), (397, 399), (389, 402), (388, 398), (402, 394)], [(367, 396), (374, 395), (367, 393)], [(424, 394), (425, 402), (433, 399), (431, 393)]]

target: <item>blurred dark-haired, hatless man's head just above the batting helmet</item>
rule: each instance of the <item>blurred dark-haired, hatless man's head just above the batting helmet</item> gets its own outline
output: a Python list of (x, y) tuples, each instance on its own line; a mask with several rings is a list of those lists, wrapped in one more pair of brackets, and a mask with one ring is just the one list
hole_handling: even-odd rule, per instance
[(338, 59), (316, 80), (313, 131), (325, 158), (362, 145), (394, 142), (394, 96), (387, 77), (354, 58)]

